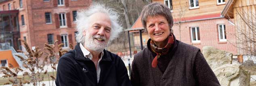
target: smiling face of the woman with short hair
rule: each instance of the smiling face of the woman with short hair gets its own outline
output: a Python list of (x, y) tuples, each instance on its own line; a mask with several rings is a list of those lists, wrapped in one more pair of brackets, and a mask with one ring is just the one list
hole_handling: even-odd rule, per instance
[(148, 16), (146, 26), (149, 37), (155, 43), (162, 44), (170, 35), (169, 24), (164, 16)]

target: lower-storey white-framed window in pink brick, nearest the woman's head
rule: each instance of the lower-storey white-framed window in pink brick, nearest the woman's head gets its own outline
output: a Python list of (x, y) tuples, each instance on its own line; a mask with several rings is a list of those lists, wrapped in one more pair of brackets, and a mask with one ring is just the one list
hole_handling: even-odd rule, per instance
[(199, 43), (200, 42), (199, 27), (192, 27), (190, 31), (191, 31), (192, 43)]

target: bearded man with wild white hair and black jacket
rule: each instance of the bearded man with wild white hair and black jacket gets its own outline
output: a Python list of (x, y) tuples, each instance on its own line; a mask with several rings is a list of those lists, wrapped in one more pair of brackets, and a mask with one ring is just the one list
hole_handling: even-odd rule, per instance
[(78, 12), (78, 44), (59, 60), (57, 86), (131, 86), (122, 59), (104, 50), (122, 31), (118, 16), (97, 3)]

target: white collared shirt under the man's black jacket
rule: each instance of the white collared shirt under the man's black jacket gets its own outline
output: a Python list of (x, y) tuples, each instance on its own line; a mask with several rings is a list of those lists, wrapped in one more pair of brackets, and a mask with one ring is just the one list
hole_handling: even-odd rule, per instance
[[(88, 58), (90, 60), (92, 60), (92, 54), (86, 50), (86, 48), (84, 48), (84, 46), (80, 43), (80, 48), (84, 54), (84, 58)], [(99, 79), (100, 79), (100, 74), (101, 74), (101, 68), (99, 66), (99, 62), (101, 61), (102, 57), (103, 57), (104, 53), (103, 51), (101, 52), (101, 58), (99, 58), (99, 61), (98, 61), (98, 64), (97, 64), (97, 82), (99, 82)]]

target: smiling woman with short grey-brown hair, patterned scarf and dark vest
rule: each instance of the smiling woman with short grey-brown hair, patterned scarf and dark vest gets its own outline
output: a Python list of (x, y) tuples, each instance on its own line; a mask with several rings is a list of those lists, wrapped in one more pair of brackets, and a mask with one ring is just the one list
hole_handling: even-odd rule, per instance
[(147, 48), (134, 55), (133, 86), (220, 86), (200, 49), (176, 40), (167, 6), (145, 6), (141, 21), (150, 39)]

